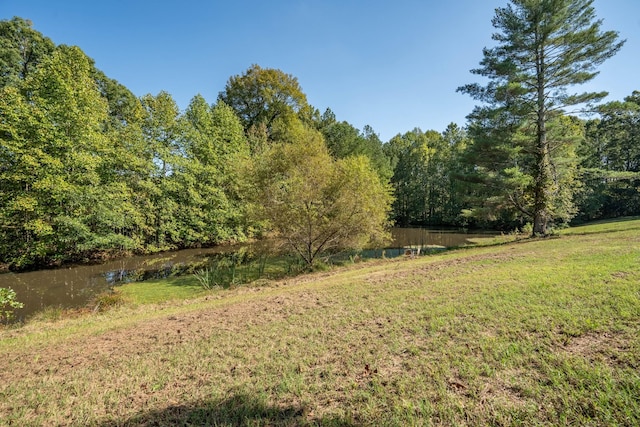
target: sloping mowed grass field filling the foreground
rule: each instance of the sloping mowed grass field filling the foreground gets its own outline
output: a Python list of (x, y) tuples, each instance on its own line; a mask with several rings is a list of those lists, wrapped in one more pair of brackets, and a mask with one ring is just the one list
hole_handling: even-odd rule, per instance
[(640, 220), (5, 330), (0, 423), (640, 425)]

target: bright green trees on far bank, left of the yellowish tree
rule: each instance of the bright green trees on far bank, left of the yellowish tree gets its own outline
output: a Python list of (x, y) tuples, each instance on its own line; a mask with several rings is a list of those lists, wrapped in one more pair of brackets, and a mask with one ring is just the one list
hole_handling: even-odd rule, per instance
[(138, 100), (77, 47), (23, 77), (0, 88), (11, 268), (244, 238), (236, 170), (248, 148), (229, 107), (181, 115), (166, 92)]

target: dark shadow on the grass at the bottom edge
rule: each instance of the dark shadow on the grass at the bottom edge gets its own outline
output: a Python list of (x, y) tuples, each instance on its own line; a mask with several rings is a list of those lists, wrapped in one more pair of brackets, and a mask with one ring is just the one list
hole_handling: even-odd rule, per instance
[(302, 406), (273, 406), (249, 394), (144, 412), (101, 427), (120, 426), (355, 426), (337, 417), (309, 419)]

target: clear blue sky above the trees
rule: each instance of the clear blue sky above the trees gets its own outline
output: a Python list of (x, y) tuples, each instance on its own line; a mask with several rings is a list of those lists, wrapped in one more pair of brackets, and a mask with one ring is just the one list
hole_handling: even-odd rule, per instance
[[(56, 44), (79, 46), (134, 94), (209, 102), (251, 64), (298, 78), (309, 102), (370, 125), (383, 141), (419, 127), (465, 125), (475, 101), (456, 88), (493, 46), (507, 0), (0, 0)], [(640, 90), (640, 0), (595, 0), (604, 30), (627, 43), (585, 89)]]

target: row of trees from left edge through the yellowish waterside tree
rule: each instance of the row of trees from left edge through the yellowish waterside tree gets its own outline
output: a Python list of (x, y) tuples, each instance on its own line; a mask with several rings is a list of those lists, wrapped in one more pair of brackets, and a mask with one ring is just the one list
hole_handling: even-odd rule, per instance
[[(311, 264), (321, 251), (384, 237), (391, 194), (381, 142), (320, 117), (295, 77), (255, 65), (215, 103), (196, 95), (180, 111), (164, 91), (134, 96), (79, 47), (56, 46), (22, 18), (0, 22), (0, 40), (0, 263), (21, 269), (280, 230)], [(339, 147), (347, 138), (353, 147)], [(305, 227), (292, 228), (301, 226), (294, 218)]]

